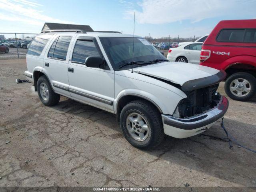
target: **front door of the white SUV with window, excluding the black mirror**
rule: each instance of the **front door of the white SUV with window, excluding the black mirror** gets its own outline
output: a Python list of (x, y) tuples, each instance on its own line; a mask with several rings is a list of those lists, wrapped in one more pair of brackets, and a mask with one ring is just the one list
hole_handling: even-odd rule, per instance
[(88, 56), (103, 57), (96, 38), (78, 37), (72, 50), (68, 63), (70, 95), (86, 104), (113, 112), (114, 71), (108, 64), (102, 68), (85, 66)]

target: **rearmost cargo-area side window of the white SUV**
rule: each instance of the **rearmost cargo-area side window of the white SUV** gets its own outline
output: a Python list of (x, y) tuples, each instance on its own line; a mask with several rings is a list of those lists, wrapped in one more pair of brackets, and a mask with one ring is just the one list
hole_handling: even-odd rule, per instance
[(52, 35), (50, 34), (36, 36), (34, 40), (31, 42), (27, 54), (39, 56), (51, 37)]

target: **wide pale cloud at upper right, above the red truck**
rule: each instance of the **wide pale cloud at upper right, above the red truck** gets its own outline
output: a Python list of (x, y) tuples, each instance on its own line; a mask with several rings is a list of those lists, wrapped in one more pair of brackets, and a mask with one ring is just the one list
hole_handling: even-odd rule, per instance
[[(242, 16), (255, 12), (255, 0), (142, 0), (140, 10), (129, 9), (125, 18), (132, 18), (136, 11), (137, 22), (143, 24), (163, 24), (190, 20), (198, 22), (219, 16)], [(255, 14), (254, 14), (255, 17)]]

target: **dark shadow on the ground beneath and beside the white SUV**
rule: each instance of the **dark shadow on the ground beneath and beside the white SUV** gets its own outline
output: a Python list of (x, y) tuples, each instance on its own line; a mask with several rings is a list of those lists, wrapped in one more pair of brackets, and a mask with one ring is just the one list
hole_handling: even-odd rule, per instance
[[(114, 114), (70, 99), (62, 100), (52, 108), (97, 122), (99, 125), (118, 132), (114, 136), (110, 135), (110, 138), (125, 140)], [(89, 116), (86, 111), (90, 111)], [(242, 145), (255, 150), (255, 126), (228, 118), (224, 119), (224, 124), (228, 132)], [(185, 139), (166, 136), (158, 148), (140, 151), (156, 156), (157, 160), (178, 164), (184, 169), (182, 171), (213, 176), (243, 186), (254, 186), (252, 181), (255, 179), (256, 173), (255, 154), (244, 148), (239, 148), (236, 144), (233, 144), (233, 149), (230, 149), (229, 142), (225, 138), (226, 134), (221, 128), (220, 122), (216, 122), (209, 130), (200, 135)], [(132, 146), (130, 148), (138, 150)], [(248, 183), (242, 182), (245, 179), (248, 180)]]

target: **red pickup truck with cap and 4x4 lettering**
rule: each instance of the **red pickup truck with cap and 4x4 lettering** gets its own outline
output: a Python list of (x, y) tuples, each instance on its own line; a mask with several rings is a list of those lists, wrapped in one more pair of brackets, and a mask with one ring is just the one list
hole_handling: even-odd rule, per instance
[(245, 101), (256, 94), (256, 19), (220, 21), (202, 45), (200, 65), (224, 70), (226, 94)]

